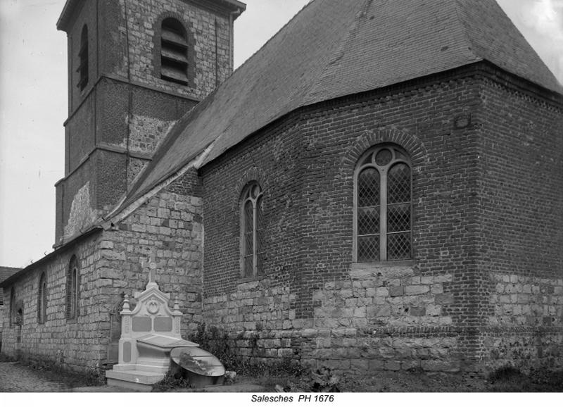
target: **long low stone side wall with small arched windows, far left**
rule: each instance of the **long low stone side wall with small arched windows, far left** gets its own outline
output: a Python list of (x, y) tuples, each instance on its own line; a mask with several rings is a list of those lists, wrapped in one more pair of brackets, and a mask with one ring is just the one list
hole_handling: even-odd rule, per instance
[[(103, 330), (108, 328), (99, 301), (103, 282), (96, 279), (101, 242), (100, 233), (91, 235), (25, 270), (23, 277), (13, 284), (15, 303), (23, 304), (23, 323), (19, 328), (4, 315), (2, 353), (64, 364), (72, 370), (100, 367), (106, 355)], [(79, 312), (75, 320), (67, 320), (66, 277), (73, 255), (80, 267)], [(39, 323), (37, 301), (42, 273), (47, 280), (48, 317)], [(10, 304), (6, 306), (9, 308)]]

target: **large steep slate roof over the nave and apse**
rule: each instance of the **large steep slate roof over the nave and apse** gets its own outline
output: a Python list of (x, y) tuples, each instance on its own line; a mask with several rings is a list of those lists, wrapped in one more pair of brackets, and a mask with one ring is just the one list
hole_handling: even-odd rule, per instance
[(123, 206), (297, 108), (483, 60), (563, 94), (495, 0), (314, 0), (179, 120)]

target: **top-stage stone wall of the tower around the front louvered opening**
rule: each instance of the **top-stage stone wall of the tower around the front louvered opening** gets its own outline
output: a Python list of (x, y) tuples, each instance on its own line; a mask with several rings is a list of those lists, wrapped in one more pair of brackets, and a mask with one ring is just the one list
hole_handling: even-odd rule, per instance
[[(201, 100), (232, 73), (231, 23), (227, 11), (182, 0), (103, 1), (105, 21), (101, 43), (103, 73), (165, 92)], [(184, 23), (190, 44), (189, 85), (160, 79), (162, 20), (174, 17)], [(120, 35), (128, 35), (127, 43)], [(129, 58), (129, 65), (127, 65)]]

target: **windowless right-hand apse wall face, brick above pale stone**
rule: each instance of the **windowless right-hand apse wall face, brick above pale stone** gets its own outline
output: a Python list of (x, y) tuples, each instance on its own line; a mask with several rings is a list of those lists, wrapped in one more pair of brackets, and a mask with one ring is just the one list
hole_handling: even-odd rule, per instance
[(526, 84), (484, 85), (477, 244), (488, 327), (481, 357), (493, 367), (561, 366), (561, 98)]

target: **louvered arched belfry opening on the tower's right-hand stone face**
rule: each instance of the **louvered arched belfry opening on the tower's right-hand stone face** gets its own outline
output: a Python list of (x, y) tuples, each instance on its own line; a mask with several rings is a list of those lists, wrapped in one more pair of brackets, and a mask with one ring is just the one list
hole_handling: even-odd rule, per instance
[(178, 84), (188, 84), (188, 42), (186, 30), (178, 20), (166, 18), (160, 44), (160, 77)]

